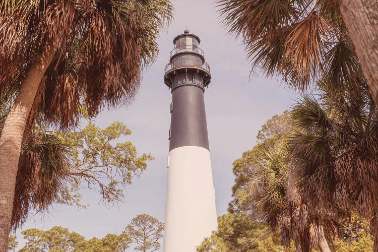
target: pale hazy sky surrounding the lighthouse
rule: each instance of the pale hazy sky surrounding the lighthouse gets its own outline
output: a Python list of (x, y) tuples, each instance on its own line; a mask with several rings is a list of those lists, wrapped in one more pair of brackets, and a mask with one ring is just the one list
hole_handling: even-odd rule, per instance
[[(210, 153), (217, 214), (227, 213), (234, 183), (233, 161), (254, 147), (261, 126), (273, 115), (289, 109), (297, 94), (263, 74), (248, 78), (250, 64), (244, 47), (240, 40), (227, 34), (213, 0), (172, 2), (174, 20), (168, 29), (161, 31), (159, 55), (144, 70), (135, 101), (128, 107), (105, 110), (96, 119), (102, 128), (112, 121), (123, 122), (133, 134), (121, 140), (133, 142), (139, 154), (151, 153), (155, 160), (126, 188), (124, 202), (108, 208), (100, 203), (97, 192), (83, 191), (83, 203), (89, 204), (87, 209), (57, 205), (48, 214), (31, 216), (22, 230), (62, 226), (90, 239), (108, 233), (120, 234), (132, 218), (142, 213), (164, 221), (171, 93), (164, 85), (163, 75), (173, 38), (182, 34), (185, 27), (200, 37), (200, 47), (211, 68), (212, 82), (205, 90)], [(17, 237), (21, 248), (25, 243), (21, 229)], [(128, 251), (134, 251), (132, 248)]]

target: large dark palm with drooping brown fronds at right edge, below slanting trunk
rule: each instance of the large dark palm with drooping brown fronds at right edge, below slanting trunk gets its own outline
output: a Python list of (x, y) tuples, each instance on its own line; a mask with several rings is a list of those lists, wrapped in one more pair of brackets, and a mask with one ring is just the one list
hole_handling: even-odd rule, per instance
[(310, 209), (370, 219), (378, 251), (378, 113), (367, 85), (339, 95), (319, 91), (292, 110), (290, 140), (298, 191)]

